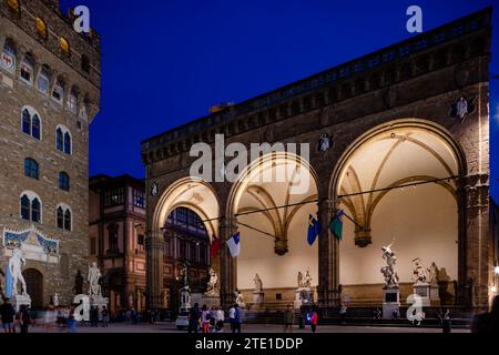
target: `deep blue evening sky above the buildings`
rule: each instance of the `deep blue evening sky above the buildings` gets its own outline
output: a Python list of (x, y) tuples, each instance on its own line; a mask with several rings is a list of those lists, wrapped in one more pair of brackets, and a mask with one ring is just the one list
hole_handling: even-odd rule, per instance
[[(90, 174), (144, 176), (140, 142), (409, 38), (498, 0), (62, 0), (85, 4), (102, 36), (102, 105), (90, 129)], [(499, 74), (499, 7), (491, 72)], [(492, 195), (499, 200), (499, 80), (491, 92)]]

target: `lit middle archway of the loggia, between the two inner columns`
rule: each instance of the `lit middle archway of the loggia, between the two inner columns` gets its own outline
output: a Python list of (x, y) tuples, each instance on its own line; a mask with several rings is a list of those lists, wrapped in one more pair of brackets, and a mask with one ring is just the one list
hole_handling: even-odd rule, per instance
[(308, 161), (273, 152), (253, 161), (234, 184), (227, 215), (241, 233), (236, 288), (248, 303), (256, 274), (265, 302), (293, 302), (298, 272), (317, 282), (318, 243), (307, 243), (309, 215), (317, 214), (316, 181)]

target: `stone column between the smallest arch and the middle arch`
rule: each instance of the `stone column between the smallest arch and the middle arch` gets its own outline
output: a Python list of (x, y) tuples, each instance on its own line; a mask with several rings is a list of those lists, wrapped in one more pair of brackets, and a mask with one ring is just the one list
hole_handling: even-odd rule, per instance
[(237, 287), (237, 258), (232, 257), (227, 247), (227, 240), (237, 232), (235, 219), (222, 217), (218, 224), (221, 247), (220, 275), (221, 275), (221, 304), (227, 307), (234, 302), (234, 292)]

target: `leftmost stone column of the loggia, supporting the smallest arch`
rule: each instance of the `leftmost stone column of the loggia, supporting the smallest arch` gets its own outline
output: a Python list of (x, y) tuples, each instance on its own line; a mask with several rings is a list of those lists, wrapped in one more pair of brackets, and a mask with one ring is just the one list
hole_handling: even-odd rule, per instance
[(163, 307), (161, 292), (163, 290), (163, 233), (162, 231), (147, 231), (145, 251), (147, 255), (147, 310)]

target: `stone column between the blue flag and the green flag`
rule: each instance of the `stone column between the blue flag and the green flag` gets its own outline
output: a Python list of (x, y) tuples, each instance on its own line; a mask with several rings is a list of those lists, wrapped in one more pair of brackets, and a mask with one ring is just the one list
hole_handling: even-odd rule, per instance
[(318, 221), (323, 226), (318, 236), (318, 303), (322, 307), (333, 306), (339, 284), (338, 241), (329, 232), (329, 223), (336, 210), (330, 200), (319, 200)]

